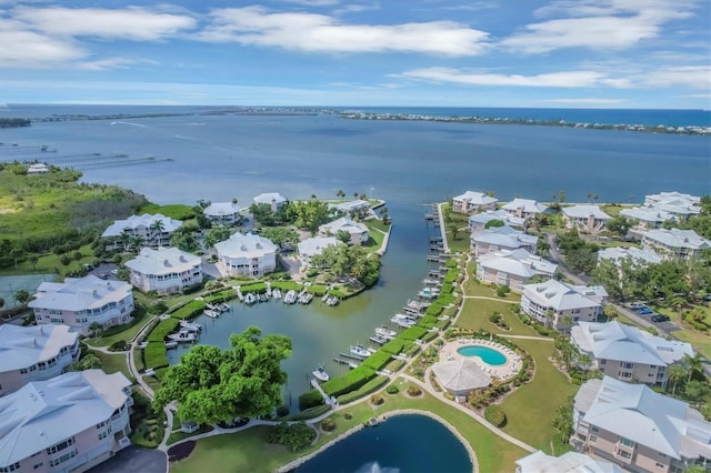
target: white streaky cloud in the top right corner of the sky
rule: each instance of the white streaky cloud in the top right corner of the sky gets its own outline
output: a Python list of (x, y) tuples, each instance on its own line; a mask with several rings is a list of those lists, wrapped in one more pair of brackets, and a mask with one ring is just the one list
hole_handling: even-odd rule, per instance
[(561, 0), (538, 17), (564, 17), (527, 24), (501, 44), (528, 53), (563, 48), (623, 49), (659, 38), (663, 24), (688, 18), (695, 1)]

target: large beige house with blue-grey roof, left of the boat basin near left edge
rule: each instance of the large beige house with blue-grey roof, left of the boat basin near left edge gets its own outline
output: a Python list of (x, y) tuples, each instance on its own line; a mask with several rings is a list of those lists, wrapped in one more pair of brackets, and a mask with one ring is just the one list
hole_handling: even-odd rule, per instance
[(98, 323), (104, 329), (131, 320), (133, 292), (123, 281), (104, 281), (92, 274), (66, 278), (64, 282), (43, 282), (29, 306), (38, 325), (66, 324), (82, 334)]

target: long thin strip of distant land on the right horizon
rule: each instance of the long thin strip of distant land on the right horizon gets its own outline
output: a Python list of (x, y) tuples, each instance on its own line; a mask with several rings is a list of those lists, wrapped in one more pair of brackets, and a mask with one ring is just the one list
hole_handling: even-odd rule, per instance
[(649, 127), (643, 124), (610, 124), (610, 123), (584, 123), (584, 122), (569, 122), (565, 120), (550, 119), (550, 120), (532, 120), (521, 118), (492, 118), (492, 117), (438, 117), (417, 113), (377, 113), (377, 112), (363, 112), (357, 110), (348, 110), (338, 112), (342, 118), (350, 120), (403, 120), (403, 121), (437, 121), (437, 122), (453, 122), (453, 123), (487, 123), (487, 124), (533, 124), (543, 127), (567, 127), (567, 128), (583, 128), (595, 130), (619, 130), (619, 131), (638, 131), (647, 133), (670, 133), (670, 134), (703, 134), (711, 135), (711, 127), (669, 127), (659, 124), (657, 127)]

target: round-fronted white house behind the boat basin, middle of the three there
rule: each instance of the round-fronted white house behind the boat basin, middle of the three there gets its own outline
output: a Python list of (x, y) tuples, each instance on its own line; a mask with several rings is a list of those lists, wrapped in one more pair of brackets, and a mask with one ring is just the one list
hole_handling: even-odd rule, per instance
[(214, 249), (223, 274), (261, 276), (277, 269), (277, 245), (254, 233), (234, 233)]

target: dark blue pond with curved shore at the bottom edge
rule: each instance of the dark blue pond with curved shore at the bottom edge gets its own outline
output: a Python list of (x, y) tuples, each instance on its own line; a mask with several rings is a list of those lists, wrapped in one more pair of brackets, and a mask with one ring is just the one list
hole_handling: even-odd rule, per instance
[(461, 442), (442, 424), (423, 415), (398, 415), (363, 429), (296, 469), (297, 473), (472, 471)]

